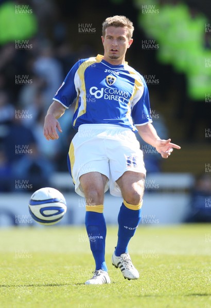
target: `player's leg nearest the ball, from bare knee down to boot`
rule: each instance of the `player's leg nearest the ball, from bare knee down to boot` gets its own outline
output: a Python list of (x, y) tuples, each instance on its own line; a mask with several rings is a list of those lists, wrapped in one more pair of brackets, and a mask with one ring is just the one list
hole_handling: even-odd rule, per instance
[[(104, 187), (108, 178), (100, 172), (89, 172), (80, 177), (80, 185), (86, 198), (85, 226), (95, 259), (95, 273), (86, 284), (110, 283), (105, 261), (106, 221), (103, 216)], [(103, 272), (102, 272), (103, 271)]]

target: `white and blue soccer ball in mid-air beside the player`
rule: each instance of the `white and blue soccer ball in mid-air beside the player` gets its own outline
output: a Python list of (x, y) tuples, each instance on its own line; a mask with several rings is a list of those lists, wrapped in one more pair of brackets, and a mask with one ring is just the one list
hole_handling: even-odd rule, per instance
[(40, 224), (53, 225), (66, 213), (66, 200), (55, 188), (44, 187), (36, 190), (29, 200), (29, 213)]

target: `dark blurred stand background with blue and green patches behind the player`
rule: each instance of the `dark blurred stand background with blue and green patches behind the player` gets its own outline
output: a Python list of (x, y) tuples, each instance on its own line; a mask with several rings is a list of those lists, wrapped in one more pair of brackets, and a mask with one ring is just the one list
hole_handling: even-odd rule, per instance
[[(43, 137), (45, 113), (75, 62), (103, 54), (101, 24), (116, 14), (126, 15), (134, 24), (134, 42), (126, 61), (145, 77), (153, 124), (161, 138), (170, 137), (182, 147), (161, 160), (140, 141), (148, 172), (210, 174), (211, 83), (209, 90), (194, 92), (200, 79), (197, 52), (198, 59), (205, 52), (206, 83), (211, 80), (210, 6), (208, 0), (0, 1), (0, 190), (13, 191), (15, 179), (20, 184), (20, 179), (30, 178), (34, 191), (47, 186), (54, 172), (67, 171), (66, 155), (76, 133), (71, 127), (74, 109), (65, 112), (60, 120), (63, 134), (52, 142)], [(161, 24), (164, 20), (166, 24)], [(178, 34), (175, 38), (173, 31)], [(200, 36), (196, 44), (195, 35)], [(178, 69), (175, 55), (181, 46), (184, 61)], [(161, 57), (163, 51), (170, 52), (168, 61)]]

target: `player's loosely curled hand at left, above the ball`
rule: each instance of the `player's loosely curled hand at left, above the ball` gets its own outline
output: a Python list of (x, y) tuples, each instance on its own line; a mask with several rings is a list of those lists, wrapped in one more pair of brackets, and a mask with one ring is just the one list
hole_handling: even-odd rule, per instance
[(55, 119), (51, 114), (47, 114), (45, 117), (43, 133), (47, 140), (58, 139), (59, 135), (57, 129), (62, 132), (59, 121)]

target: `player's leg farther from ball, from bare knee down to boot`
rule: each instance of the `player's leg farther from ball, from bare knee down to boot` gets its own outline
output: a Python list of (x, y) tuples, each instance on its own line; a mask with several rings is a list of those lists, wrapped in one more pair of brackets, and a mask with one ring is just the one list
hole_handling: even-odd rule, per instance
[(118, 215), (118, 241), (112, 256), (112, 263), (119, 267), (122, 275), (129, 280), (139, 277), (128, 254), (128, 244), (141, 218), (144, 179), (145, 175), (142, 173), (126, 171), (116, 181), (121, 189), (124, 202), (122, 202)]

